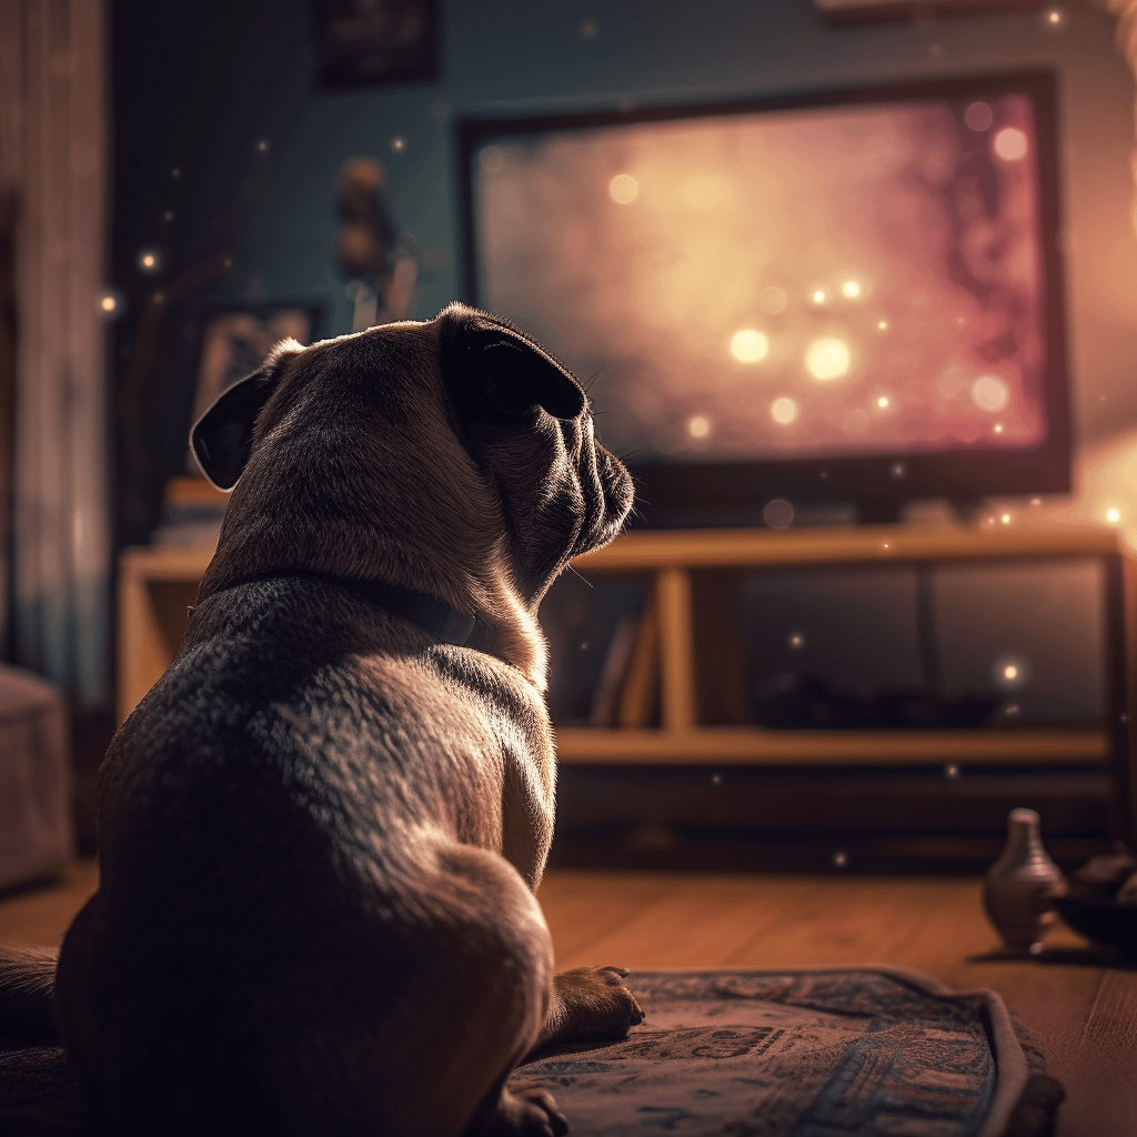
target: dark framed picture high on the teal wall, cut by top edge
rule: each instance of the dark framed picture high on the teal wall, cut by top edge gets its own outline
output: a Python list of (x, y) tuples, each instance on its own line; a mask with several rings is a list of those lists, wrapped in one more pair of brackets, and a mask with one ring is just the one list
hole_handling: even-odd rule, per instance
[(439, 0), (309, 0), (319, 91), (426, 83), (440, 67)]

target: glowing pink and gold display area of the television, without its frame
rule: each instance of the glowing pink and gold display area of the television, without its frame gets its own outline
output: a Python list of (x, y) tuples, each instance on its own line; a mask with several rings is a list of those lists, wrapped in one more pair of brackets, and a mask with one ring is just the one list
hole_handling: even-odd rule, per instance
[(505, 139), (481, 294), (633, 460), (1038, 446), (1035, 147), (1020, 96)]

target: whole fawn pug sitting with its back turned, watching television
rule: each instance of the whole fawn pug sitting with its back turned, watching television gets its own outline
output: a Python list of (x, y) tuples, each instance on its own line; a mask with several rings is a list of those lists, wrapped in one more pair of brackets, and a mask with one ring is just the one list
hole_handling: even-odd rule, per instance
[[(235, 489), (177, 656), (108, 752), (100, 887), (56, 973), (98, 1124), (563, 1132), (509, 1072), (642, 1019), (614, 968), (554, 977), (532, 893), (555, 770), (537, 606), (632, 497), (584, 392), (451, 305), (285, 342), (193, 445)], [(367, 581), (476, 615), (473, 646)], [(6, 966), (42, 986), (49, 964)]]

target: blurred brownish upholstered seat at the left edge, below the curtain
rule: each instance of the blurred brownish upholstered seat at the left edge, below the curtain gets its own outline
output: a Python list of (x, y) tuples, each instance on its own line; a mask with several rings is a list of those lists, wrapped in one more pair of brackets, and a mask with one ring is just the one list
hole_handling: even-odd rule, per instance
[(74, 852), (63, 696), (39, 675), (0, 664), (0, 888), (52, 872)]

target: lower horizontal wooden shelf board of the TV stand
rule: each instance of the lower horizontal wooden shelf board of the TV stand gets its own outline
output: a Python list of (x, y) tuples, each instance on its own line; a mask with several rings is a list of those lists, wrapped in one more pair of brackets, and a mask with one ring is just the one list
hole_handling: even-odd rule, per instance
[(966, 763), (1101, 766), (1104, 730), (687, 730), (557, 731), (557, 758), (580, 764), (913, 765)]

